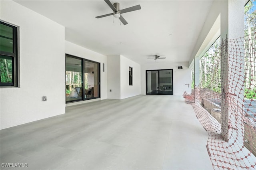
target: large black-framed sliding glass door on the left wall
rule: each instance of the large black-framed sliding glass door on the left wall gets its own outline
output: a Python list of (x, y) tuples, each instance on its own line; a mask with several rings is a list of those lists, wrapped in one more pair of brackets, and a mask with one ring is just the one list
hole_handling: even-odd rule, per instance
[(66, 103), (100, 97), (100, 63), (66, 55)]

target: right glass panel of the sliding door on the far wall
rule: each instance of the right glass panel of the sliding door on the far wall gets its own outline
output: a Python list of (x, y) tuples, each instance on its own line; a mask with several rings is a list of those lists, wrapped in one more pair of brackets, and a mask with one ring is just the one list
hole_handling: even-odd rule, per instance
[(159, 70), (159, 94), (173, 95), (172, 70)]

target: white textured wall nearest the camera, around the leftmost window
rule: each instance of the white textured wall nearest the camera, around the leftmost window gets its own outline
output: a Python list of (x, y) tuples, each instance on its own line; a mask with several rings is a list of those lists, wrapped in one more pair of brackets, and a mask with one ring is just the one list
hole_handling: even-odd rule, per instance
[(64, 114), (64, 27), (13, 1), (0, 11), (20, 27), (20, 87), (0, 89), (1, 129)]

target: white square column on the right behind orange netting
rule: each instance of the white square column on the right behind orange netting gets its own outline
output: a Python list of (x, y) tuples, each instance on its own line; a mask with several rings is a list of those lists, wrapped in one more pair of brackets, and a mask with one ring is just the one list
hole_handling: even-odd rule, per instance
[[(227, 10), (221, 13), (221, 39), (244, 37), (244, 0), (228, 0), (225, 5)], [(244, 69), (239, 67), (244, 63), (244, 56), (240, 56), (243, 53), (230, 53), (232, 45), (232, 43), (227, 42), (226, 49), (222, 50), (221, 56), (221, 133), (226, 141), (242, 145), (244, 123), (242, 115), (238, 113), (243, 113)], [(243, 42), (239, 42), (237, 45), (242, 47)], [(235, 58), (239, 63), (239, 67), (232, 62), (232, 59)], [(236, 79), (237, 76), (239, 76), (239, 80)], [(233, 80), (239, 82), (235, 83)]]

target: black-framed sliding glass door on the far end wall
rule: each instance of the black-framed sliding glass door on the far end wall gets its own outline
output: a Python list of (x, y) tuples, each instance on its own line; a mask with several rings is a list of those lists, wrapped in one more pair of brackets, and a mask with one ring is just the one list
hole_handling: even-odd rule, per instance
[(146, 71), (147, 95), (173, 95), (173, 69)]

